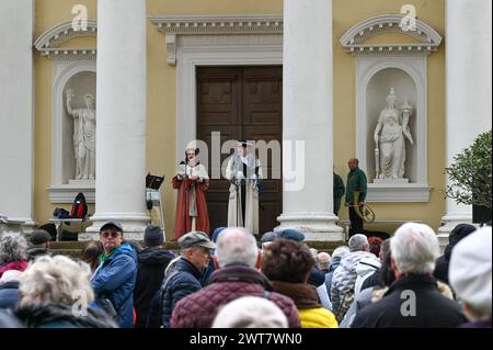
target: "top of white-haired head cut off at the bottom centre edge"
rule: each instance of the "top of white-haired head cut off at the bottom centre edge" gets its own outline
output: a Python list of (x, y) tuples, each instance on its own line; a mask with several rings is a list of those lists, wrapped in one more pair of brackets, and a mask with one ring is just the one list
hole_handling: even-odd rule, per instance
[(219, 311), (213, 328), (288, 328), (288, 320), (273, 302), (259, 296), (243, 296)]

